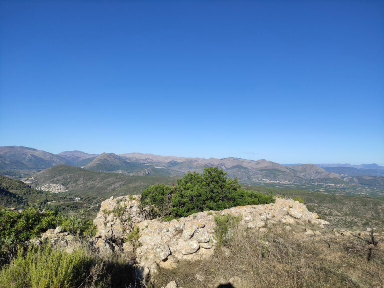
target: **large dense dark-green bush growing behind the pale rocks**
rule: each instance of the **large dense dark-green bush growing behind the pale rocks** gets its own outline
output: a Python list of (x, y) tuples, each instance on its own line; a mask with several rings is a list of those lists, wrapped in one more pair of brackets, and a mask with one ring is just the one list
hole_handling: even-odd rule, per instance
[(273, 195), (242, 189), (236, 178), (228, 179), (227, 174), (217, 167), (207, 167), (202, 174), (189, 172), (177, 180), (176, 186), (151, 186), (141, 196), (149, 218), (166, 219), (274, 201)]

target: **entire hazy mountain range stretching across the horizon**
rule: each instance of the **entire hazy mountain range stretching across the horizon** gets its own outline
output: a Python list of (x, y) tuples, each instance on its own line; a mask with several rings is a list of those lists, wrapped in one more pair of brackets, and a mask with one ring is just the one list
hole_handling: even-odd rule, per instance
[[(325, 181), (339, 183), (342, 176), (380, 176), (384, 167), (377, 164), (288, 164), (281, 165), (265, 159), (191, 158), (161, 156), (143, 153), (89, 154), (82, 151), (64, 151), (52, 154), (23, 146), (0, 147), (0, 173), (26, 171), (34, 173), (56, 165), (71, 165), (87, 170), (119, 172), (126, 175), (183, 175), (188, 171), (202, 172), (204, 167), (219, 167), (230, 177), (243, 183), (258, 180), (280, 182)], [(343, 165), (343, 166), (335, 166)], [(33, 174), (34, 174), (33, 173)], [(11, 173), (12, 174), (12, 173)], [(24, 174), (23, 174), (24, 175)], [(12, 176), (12, 175), (11, 175)]]

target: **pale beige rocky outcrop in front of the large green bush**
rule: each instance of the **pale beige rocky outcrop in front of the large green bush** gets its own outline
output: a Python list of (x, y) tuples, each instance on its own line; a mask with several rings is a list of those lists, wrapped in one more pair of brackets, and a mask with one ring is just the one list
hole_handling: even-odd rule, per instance
[(140, 267), (151, 273), (158, 266), (175, 268), (180, 260), (195, 261), (209, 258), (217, 245), (214, 215), (241, 216), (240, 224), (252, 231), (265, 226), (282, 224), (328, 222), (318, 219), (316, 213), (292, 199), (276, 198), (268, 205), (239, 206), (222, 211), (205, 211), (169, 222), (145, 219), (141, 213), (140, 195), (122, 196), (105, 200), (94, 224), (98, 234), (93, 241), (123, 243), (128, 234), (138, 232), (136, 237), (122, 245), (123, 252), (133, 257)]

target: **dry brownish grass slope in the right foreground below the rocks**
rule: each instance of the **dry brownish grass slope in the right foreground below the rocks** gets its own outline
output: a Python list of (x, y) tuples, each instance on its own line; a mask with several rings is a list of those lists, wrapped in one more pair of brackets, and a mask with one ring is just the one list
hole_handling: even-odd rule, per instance
[(220, 226), (225, 223), (225, 229), (219, 229), (220, 233), (227, 231), (222, 236), (227, 240), (211, 259), (180, 262), (173, 270), (160, 269), (153, 287), (170, 281), (184, 288), (384, 285), (384, 247), (380, 242), (373, 246), (357, 237), (324, 230), (321, 237), (307, 237), (303, 226), (276, 225), (261, 233), (227, 220), (219, 220)]

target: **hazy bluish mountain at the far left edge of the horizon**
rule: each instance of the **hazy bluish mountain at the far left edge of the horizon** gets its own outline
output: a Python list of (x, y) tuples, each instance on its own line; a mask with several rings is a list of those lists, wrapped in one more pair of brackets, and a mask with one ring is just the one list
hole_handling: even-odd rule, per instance
[(0, 147), (0, 170), (45, 169), (68, 161), (55, 154), (23, 146)]

